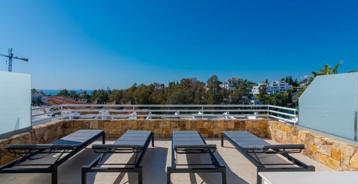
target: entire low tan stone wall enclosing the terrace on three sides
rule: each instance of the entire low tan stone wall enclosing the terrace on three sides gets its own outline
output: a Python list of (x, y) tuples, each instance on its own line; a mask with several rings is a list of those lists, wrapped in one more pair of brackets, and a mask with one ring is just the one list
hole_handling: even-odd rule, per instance
[(31, 131), (0, 140), (0, 165), (16, 157), (5, 149), (11, 144), (50, 143), (79, 129), (104, 129), (107, 138), (118, 138), (128, 129), (151, 130), (155, 138), (170, 138), (175, 130), (197, 130), (203, 137), (219, 138), (222, 131), (246, 130), (258, 137), (269, 137), (282, 144), (302, 143), (303, 155), (338, 171), (358, 171), (358, 147), (301, 131), (288, 124), (266, 120), (60, 120), (38, 126)]

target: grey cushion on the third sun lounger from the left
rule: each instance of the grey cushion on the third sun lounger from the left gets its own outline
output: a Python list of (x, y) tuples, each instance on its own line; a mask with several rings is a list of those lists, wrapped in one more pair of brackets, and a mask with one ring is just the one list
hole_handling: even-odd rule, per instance
[(214, 144), (205, 144), (198, 131), (173, 131), (174, 148), (216, 148)]

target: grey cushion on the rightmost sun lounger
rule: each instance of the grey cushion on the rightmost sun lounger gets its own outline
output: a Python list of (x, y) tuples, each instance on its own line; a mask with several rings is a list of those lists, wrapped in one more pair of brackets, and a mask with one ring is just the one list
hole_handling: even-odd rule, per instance
[(258, 138), (247, 131), (224, 131), (224, 135), (229, 137), (238, 146), (244, 149), (283, 149), (283, 148), (304, 148), (304, 145), (271, 145), (270, 143)]

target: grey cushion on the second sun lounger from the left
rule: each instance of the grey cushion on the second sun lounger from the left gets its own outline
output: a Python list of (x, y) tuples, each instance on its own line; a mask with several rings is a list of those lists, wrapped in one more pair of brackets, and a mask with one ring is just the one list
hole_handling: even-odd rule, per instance
[(144, 148), (145, 143), (150, 137), (152, 131), (144, 130), (128, 130), (120, 138), (118, 138), (113, 144), (105, 145), (92, 145), (94, 149), (105, 149), (105, 148)]

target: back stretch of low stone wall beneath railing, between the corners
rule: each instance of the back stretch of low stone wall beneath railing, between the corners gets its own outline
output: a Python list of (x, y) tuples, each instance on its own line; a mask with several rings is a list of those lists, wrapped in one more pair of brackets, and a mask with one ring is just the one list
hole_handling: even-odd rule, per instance
[(222, 131), (246, 130), (258, 137), (266, 137), (266, 120), (209, 120), (209, 119), (152, 119), (152, 120), (64, 120), (64, 134), (79, 129), (104, 129), (107, 138), (118, 138), (127, 130), (151, 130), (155, 138), (170, 138), (176, 130), (196, 130), (204, 138), (219, 138)]

